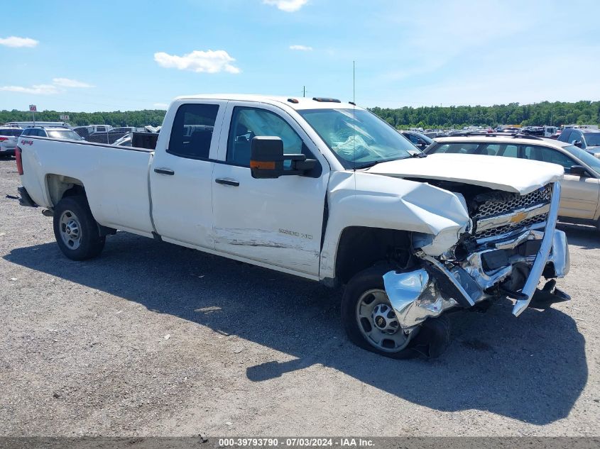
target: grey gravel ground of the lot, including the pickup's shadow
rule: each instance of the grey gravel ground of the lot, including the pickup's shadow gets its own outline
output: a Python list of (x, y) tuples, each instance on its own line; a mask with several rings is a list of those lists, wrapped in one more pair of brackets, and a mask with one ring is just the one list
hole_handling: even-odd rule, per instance
[(317, 283), (128, 233), (67, 260), (17, 186), (0, 161), (0, 435), (599, 434), (592, 228), (562, 226), (572, 301), (452, 314), (447, 353), (396, 361)]

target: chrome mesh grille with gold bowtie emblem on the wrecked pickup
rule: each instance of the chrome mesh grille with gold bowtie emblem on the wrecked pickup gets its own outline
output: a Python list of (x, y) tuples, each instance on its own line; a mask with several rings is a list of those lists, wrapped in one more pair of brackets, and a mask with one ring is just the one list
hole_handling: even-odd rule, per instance
[[(526, 194), (523, 196), (515, 195), (513, 199), (508, 201), (486, 201), (479, 205), (479, 208), (474, 214), (473, 218), (476, 221), (480, 218), (489, 218), (502, 214), (511, 214), (513, 211), (520, 209), (530, 208), (532, 206), (538, 206), (541, 204), (549, 204), (552, 198), (552, 189), (550, 186), (545, 186), (542, 189), (538, 189), (535, 192)], [(538, 223), (544, 223), (547, 221), (547, 214), (534, 216), (532, 218), (519, 221), (518, 223), (511, 223), (506, 226), (498, 226), (496, 228), (486, 229), (484, 231), (475, 231), (475, 238), (492, 238), (499, 235), (505, 235), (518, 231), (522, 228), (533, 226)], [(475, 228), (476, 229), (476, 228)]]

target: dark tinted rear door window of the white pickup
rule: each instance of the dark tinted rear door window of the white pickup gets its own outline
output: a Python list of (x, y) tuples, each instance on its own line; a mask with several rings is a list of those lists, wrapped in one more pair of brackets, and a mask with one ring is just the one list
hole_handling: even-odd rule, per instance
[(173, 121), (167, 153), (190, 159), (208, 159), (217, 104), (182, 104)]

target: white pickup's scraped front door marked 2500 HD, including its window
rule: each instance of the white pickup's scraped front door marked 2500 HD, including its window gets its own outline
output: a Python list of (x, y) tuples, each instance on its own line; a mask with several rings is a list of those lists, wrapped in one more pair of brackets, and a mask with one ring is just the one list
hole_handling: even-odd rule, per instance
[[(231, 255), (308, 275), (319, 274), (324, 200), (329, 167), (293, 118), (275, 106), (229, 102), (214, 165), (215, 247)], [(227, 132), (226, 130), (229, 130)], [(275, 135), (284, 153), (303, 153), (319, 162), (312, 172), (278, 179), (254, 179), (250, 173), (252, 138)]]

